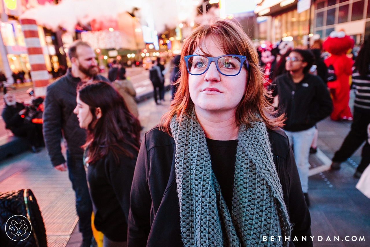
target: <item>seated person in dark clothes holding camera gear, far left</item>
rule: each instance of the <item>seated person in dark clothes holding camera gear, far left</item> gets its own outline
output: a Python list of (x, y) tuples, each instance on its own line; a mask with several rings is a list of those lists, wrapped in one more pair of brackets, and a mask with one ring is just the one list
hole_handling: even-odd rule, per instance
[(4, 95), (6, 106), (1, 116), (6, 124), (6, 128), (10, 129), (14, 136), (26, 137), (31, 144), (32, 152), (40, 151), (36, 146), (42, 140), (41, 124), (34, 124), (27, 121), (27, 109), (22, 103), (16, 101), (14, 94), (7, 93)]

